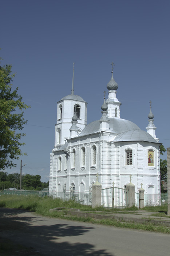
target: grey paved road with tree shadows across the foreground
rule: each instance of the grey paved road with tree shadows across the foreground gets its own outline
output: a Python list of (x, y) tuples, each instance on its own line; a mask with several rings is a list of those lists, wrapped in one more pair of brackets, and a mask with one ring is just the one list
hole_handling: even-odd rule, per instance
[(158, 256), (170, 254), (170, 234), (120, 229), (0, 208), (0, 237), (46, 256)]

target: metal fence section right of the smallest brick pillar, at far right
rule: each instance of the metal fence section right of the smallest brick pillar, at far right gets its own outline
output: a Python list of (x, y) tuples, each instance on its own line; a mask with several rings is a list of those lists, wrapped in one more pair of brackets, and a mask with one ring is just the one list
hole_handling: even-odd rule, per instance
[(167, 204), (167, 194), (145, 195), (145, 206), (161, 206)]

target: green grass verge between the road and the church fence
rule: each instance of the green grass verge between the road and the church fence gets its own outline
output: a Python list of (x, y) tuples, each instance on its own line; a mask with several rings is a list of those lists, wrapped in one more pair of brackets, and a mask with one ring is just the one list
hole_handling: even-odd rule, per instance
[[(74, 200), (69, 200), (63, 202), (63, 200), (56, 198), (53, 199), (52, 197), (38, 197), (38, 196), (16, 196), (16, 195), (3, 195), (0, 197), (0, 207), (8, 207), (8, 208), (21, 208), (26, 209), (29, 211), (36, 212), (37, 214), (53, 217), (53, 218), (63, 218), (68, 219), (72, 221), (81, 221), (81, 222), (89, 222), (89, 223), (96, 223), (96, 224), (102, 224), (107, 226), (115, 226), (115, 227), (125, 227), (129, 229), (139, 229), (139, 230), (147, 230), (147, 231), (156, 231), (156, 232), (162, 232), (162, 233), (170, 233), (170, 227), (166, 227), (163, 225), (154, 225), (153, 223), (148, 223), (145, 220), (143, 220), (143, 224), (139, 223), (129, 223), (129, 222), (123, 222), (123, 221), (116, 221), (116, 220), (109, 220), (109, 219), (102, 219), (102, 220), (96, 220), (93, 218), (84, 218), (84, 217), (75, 217), (75, 216), (67, 216), (67, 208), (79, 208), (81, 211), (87, 211), (87, 212), (94, 212), (94, 213), (102, 213), (102, 214), (108, 214), (108, 213), (115, 213), (119, 212), (121, 210), (122, 212), (128, 212), (133, 213), (134, 211), (137, 211), (137, 207), (131, 207), (131, 208), (125, 208), (125, 209), (106, 209), (104, 207), (96, 207), (92, 208), (91, 206), (84, 206), (82, 204), (76, 203)], [(56, 207), (66, 207), (63, 209), (63, 211), (53, 211), (49, 212), (50, 209), (56, 208)], [(163, 215), (163, 212), (167, 211), (167, 207), (161, 206), (161, 207), (145, 207), (142, 210), (146, 211), (155, 211), (160, 212), (160, 215)]]

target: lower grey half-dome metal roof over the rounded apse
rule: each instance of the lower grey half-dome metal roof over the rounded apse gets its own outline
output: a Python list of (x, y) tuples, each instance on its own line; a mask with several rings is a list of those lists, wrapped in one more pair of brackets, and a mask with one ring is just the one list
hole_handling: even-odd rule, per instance
[(153, 138), (153, 136), (151, 136), (148, 132), (145, 132), (139, 129), (122, 132), (113, 139), (113, 142), (123, 142), (123, 141), (146, 141), (146, 142), (158, 143)]

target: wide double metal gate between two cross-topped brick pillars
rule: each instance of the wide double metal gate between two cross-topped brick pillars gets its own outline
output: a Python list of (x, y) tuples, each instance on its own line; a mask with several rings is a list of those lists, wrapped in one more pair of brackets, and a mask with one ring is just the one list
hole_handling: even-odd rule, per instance
[(127, 207), (127, 189), (104, 188), (102, 189), (102, 205), (104, 207)]

